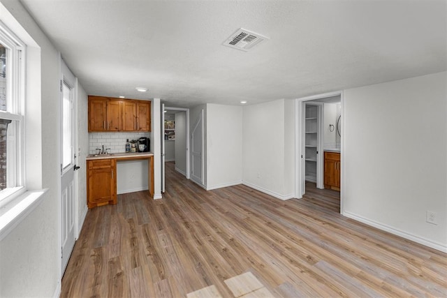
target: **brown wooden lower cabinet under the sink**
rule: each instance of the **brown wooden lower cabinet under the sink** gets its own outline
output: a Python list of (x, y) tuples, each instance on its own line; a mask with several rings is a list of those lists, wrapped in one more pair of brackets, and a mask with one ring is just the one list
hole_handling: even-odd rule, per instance
[(117, 204), (115, 158), (87, 161), (87, 207)]

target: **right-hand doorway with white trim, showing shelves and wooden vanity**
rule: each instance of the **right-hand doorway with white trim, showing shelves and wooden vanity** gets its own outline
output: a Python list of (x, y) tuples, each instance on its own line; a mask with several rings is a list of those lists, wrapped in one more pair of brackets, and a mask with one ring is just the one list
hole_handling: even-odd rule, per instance
[(297, 99), (296, 198), (319, 190), (340, 194), (342, 213), (342, 91)]

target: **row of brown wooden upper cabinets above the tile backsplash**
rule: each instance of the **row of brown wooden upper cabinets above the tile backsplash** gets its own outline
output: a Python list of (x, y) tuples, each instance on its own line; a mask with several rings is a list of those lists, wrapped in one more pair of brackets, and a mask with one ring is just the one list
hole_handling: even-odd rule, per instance
[(89, 132), (151, 131), (151, 102), (89, 96)]

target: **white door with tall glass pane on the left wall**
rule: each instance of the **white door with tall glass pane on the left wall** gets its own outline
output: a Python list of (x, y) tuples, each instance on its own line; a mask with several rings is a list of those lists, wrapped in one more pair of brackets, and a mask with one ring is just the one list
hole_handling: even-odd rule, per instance
[(75, 77), (61, 60), (61, 246), (62, 273), (75, 245)]

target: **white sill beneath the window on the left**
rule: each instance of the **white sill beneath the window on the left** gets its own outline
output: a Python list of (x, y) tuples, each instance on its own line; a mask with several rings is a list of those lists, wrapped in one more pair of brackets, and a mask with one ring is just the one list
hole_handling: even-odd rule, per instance
[(0, 241), (41, 204), (47, 190), (27, 191), (0, 209)]

